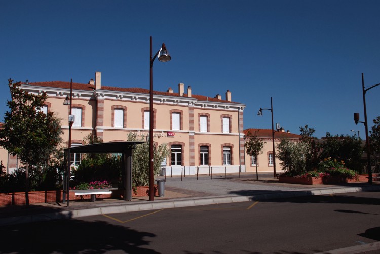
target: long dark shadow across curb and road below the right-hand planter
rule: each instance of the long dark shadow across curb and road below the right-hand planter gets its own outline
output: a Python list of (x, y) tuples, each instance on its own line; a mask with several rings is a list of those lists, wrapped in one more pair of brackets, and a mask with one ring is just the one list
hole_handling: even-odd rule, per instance
[[(368, 191), (379, 192), (379, 191)], [(380, 205), (379, 198), (355, 197), (347, 195), (313, 195), (311, 191), (268, 191), (268, 190), (239, 190), (229, 191), (229, 194), (251, 196), (252, 200), (260, 202), (292, 202), (292, 203), (345, 203)]]

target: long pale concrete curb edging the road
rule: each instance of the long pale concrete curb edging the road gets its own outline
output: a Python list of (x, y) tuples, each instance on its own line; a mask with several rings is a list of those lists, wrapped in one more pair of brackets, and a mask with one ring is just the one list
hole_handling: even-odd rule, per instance
[(81, 209), (81, 210), (63, 210), (63, 211), (57, 211), (53, 213), (0, 218), (0, 225), (3, 226), (3, 225), (13, 225), (13, 224), (39, 222), (39, 221), (71, 219), (71, 218), (80, 218), (80, 217), (92, 216), (92, 215), (116, 214), (116, 213), (132, 212), (132, 211), (170, 209), (170, 208), (190, 207), (190, 206), (199, 206), (199, 205), (259, 201), (259, 200), (270, 200), (270, 199), (279, 199), (279, 198), (326, 195), (326, 194), (349, 193), (349, 192), (360, 192), (360, 191), (373, 191), (373, 190), (380, 190), (380, 186), (337, 187), (337, 188), (328, 188), (328, 189), (321, 188), (321, 189), (314, 189), (314, 190), (308, 189), (308, 190), (270, 193), (270, 194), (258, 194), (258, 195), (252, 195), (252, 196), (214, 196), (214, 197), (200, 197), (200, 198), (191, 198), (191, 199), (185, 198), (185, 199), (160, 200), (160, 201), (154, 201), (154, 202), (142, 201), (139, 203), (133, 203), (133, 204), (127, 204), (127, 205), (113, 205), (113, 206), (104, 206), (104, 207), (98, 207), (98, 208)]

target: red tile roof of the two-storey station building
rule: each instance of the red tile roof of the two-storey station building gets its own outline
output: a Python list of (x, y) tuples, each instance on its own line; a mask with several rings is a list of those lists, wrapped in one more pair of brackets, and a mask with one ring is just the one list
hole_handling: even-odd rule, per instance
[[(25, 84), (25, 83), (22, 83), (22, 84)], [(33, 83), (28, 83), (28, 84), (29, 84), (29, 86), (70, 89), (70, 82), (64, 82), (64, 81), (33, 82)], [(72, 83), (72, 89), (74, 89), (74, 90), (93, 91), (95, 89), (95, 85), (93, 85), (93, 84), (82, 84), (82, 83)], [(101, 90), (108, 90), (108, 91), (115, 91), (115, 92), (129, 92), (129, 93), (149, 94), (149, 89), (143, 89), (143, 88), (119, 88), (119, 87), (101, 86)], [(155, 95), (176, 96), (176, 97), (178, 97), (178, 93), (153, 91), (153, 94), (155, 94)], [(188, 95), (184, 94), (182, 97), (188, 97)], [(222, 103), (237, 103), (237, 104), (240, 104), (238, 102), (219, 100), (217, 98), (207, 97), (207, 96), (203, 96), (203, 95), (195, 95), (195, 94), (192, 94), (191, 98), (195, 98), (195, 99), (197, 99), (199, 101), (210, 101), (210, 102), (222, 102)]]

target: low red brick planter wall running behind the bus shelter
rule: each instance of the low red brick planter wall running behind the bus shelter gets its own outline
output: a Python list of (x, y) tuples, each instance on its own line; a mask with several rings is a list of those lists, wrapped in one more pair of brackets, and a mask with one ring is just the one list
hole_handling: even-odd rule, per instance
[[(132, 197), (149, 196), (149, 187), (137, 187), (137, 194), (133, 193)], [(91, 199), (91, 195), (75, 195), (74, 190), (70, 190), (71, 200)], [(99, 194), (96, 198), (122, 198), (122, 191), (112, 190), (112, 194)], [(155, 196), (158, 196), (158, 188), (155, 185)], [(62, 190), (55, 191), (29, 191), (29, 204), (34, 203), (54, 203), (62, 201)], [(25, 205), (25, 192), (0, 193), (0, 206), (7, 205)]]

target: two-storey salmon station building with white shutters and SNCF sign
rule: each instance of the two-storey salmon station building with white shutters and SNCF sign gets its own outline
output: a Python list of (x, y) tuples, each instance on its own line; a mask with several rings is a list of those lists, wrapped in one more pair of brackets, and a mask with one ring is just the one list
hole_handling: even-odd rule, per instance
[[(43, 110), (53, 111), (61, 119), (63, 146), (68, 146), (70, 82), (26, 82), (21, 88), (30, 93), (46, 92)], [(171, 155), (162, 162), (166, 174), (197, 174), (213, 171), (244, 172), (243, 110), (245, 104), (232, 101), (230, 91), (220, 95), (196, 95), (191, 87), (178, 84), (176, 91), (153, 92), (154, 142), (167, 143)], [(104, 142), (127, 141), (132, 132), (149, 134), (149, 90), (103, 86), (101, 73), (95, 81), (72, 83), (71, 146), (83, 145), (83, 139), (96, 134)], [(1, 152), (1, 151), (0, 151)], [(72, 159), (80, 163), (80, 154)], [(4, 162), (3, 162), (4, 163)], [(16, 167), (16, 158), (7, 161), (8, 171)]]

